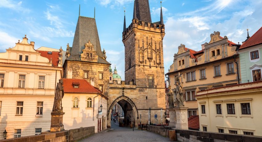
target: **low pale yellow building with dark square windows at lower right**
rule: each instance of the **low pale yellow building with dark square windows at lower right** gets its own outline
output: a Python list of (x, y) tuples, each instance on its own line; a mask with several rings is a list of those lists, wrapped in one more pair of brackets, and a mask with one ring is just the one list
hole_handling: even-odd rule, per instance
[(199, 91), (201, 131), (262, 136), (262, 81)]

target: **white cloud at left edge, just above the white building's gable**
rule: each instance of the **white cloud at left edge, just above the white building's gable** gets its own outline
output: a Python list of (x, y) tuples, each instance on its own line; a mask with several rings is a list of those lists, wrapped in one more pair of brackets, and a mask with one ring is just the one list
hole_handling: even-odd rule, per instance
[(18, 38), (10, 36), (6, 32), (0, 31), (0, 52), (5, 52), (5, 49), (15, 46), (15, 42), (18, 42)]

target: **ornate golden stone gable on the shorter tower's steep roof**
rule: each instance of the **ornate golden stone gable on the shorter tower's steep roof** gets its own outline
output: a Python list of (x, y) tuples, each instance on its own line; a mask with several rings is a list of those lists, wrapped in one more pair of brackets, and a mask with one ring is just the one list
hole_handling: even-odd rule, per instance
[(84, 49), (81, 53), (81, 61), (92, 61), (92, 62), (98, 62), (98, 56), (96, 54), (96, 51), (94, 50), (94, 45), (91, 44), (90, 40), (88, 40), (87, 43), (84, 44)]

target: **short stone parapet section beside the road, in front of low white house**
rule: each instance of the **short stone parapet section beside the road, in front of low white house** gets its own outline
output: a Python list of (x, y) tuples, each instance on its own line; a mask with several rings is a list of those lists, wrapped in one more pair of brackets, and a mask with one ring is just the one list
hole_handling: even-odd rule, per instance
[(95, 126), (69, 130), (69, 141), (75, 142), (95, 133)]

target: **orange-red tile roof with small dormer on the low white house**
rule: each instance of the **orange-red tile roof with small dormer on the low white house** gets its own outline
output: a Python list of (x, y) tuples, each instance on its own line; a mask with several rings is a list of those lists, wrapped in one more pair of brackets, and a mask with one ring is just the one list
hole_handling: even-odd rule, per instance
[[(74, 85), (79, 85), (74, 88)], [(98, 89), (92, 86), (84, 79), (63, 79), (64, 93), (101, 93)]]

